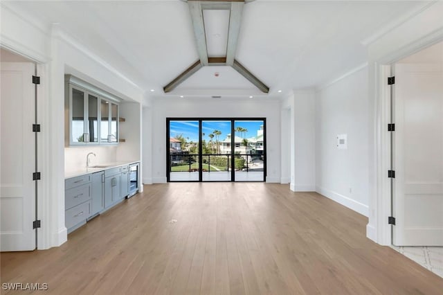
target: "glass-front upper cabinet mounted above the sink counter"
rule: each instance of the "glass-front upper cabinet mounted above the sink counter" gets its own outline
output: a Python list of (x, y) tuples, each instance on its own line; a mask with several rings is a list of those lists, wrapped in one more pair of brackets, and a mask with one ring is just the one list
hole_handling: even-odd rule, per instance
[(118, 98), (65, 76), (65, 145), (118, 143)]

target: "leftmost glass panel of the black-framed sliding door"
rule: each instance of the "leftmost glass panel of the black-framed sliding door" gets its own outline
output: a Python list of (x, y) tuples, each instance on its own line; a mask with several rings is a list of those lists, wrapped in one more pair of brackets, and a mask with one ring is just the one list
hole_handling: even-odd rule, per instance
[(199, 181), (199, 121), (171, 120), (169, 128), (170, 181)]

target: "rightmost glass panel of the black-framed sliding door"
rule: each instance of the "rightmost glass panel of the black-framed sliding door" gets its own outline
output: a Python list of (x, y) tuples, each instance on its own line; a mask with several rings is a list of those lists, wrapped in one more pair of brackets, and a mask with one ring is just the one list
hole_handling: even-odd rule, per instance
[(235, 120), (235, 181), (264, 181), (263, 120)]

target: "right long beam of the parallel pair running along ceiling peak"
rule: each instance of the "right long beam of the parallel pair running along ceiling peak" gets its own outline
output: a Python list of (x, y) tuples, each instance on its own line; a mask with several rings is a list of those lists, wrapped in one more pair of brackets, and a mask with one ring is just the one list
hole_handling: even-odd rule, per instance
[(235, 51), (237, 51), (240, 24), (242, 24), (242, 11), (244, 2), (230, 3), (228, 44), (226, 46), (226, 65), (234, 64)]

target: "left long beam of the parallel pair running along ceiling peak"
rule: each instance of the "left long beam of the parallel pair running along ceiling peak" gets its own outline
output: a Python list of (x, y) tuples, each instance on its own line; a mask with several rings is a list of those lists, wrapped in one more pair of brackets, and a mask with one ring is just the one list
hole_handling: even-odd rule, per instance
[(188, 5), (200, 62), (202, 65), (208, 66), (208, 48), (206, 46), (205, 24), (203, 21), (203, 10), (201, 10), (201, 1), (188, 1)]

